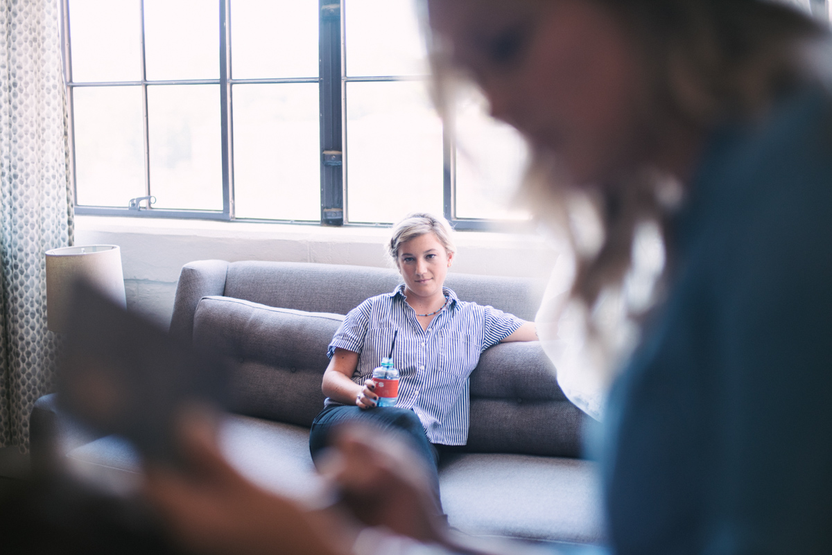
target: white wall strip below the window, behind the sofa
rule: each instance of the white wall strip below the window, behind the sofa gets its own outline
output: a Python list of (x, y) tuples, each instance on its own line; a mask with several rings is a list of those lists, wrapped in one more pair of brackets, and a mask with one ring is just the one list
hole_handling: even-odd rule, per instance
[[(127, 306), (167, 325), (192, 260), (277, 260), (388, 267), (389, 228), (77, 216), (77, 245), (121, 247)], [(453, 272), (545, 278), (557, 258), (536, 235), (458, 232)]]

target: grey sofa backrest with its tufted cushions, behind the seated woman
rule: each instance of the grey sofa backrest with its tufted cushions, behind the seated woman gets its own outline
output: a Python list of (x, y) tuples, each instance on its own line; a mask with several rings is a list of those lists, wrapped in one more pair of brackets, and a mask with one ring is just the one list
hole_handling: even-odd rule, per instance
[[(323, 408), (320, 384), (329, 362), (326, 347), (343, 320), (334, 308), (354, 302), (349, 306), (352, 308), (377, 294), (375, 291), (392, 290), (398, 274), (327, 264), (225, 263), (223, 268), (217, 262), (201, 261), (183, 268), (186, 278), (177, 290), (177, 307), (185, 307), (190, 302), (186, 297), (198, 294), (196, 289), (206, 292), (196, 300), (191, 314), (189, 335), (195, 346), (218, 349), (235, 361), (232, 410), (311, 425)], [(310, 266), (322, 268), (303, 268)], [(195, 272), (201, 275), (186, 275)], [(289, 276), (275, 275), (283, 272)], [(228, 278), (217, 292), (220, 273)], [(344, 286), (357, 276), (366, 278), (363, 286)], [(526, 311), (524, 315), (532, 312), (533, 316), (532, 307), (522, 307), (518, 301), (518, 291), (529, 291), (522, 284), (514, 282), (513, 292), (501, 292), (503, 280), (466, 278), (478, 277), (462, 278), (462, 287), (448, 284), (463, 299), (503, 310), (516, 306)], [(509, 285), (512, 282), (508, 280)], [(355, 300), (336, 299), (340, 288)], [(492, 289), (506, 302), (502, 307), (499, 302), (489, 302)], [(305, 296), (304, 291), (310, 293)], [(288, 306), (266, 306), (269, 302)], [(185, 328), (183, 320), (176, 329)], [(175, 322), (171, 322), (171, 330)], [(580, 453), (585, 418), (563, 395), (555, 369), (537, 341), (503, 343), (483, 352), (471, 376), (470, 394), (468, 450), (559, 456)]]

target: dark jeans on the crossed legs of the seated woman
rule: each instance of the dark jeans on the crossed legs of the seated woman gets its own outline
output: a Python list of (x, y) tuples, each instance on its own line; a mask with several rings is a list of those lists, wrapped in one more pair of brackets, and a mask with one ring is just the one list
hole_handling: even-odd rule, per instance
[(314, 460), (319, 451), (329, 444), (329, 433), (339, 424), (352, 420), (364, 420), (379, 426), (381, 430), (392, 431), (409, 441), (416, 452), (422, 456), (428, 469), (428, 478), (436, 505), (437, 514), (441, 515), (442, 501), (439, 499), (439, 453), (437, 447), (428, 440), (422, 422), (413, 410), (400, 409), (395, 406), (359, 409), (355, 405), (329, 405), (315, 416), (310, 430), (310, 453)]

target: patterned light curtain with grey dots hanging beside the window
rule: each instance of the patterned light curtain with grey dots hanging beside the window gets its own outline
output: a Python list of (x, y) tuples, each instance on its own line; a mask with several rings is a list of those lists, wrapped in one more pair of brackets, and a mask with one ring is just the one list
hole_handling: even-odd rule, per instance
[(46, 260), (72, 244), (58, 0), (0, 0), (0, 446), (28, 449), (52, 387)]

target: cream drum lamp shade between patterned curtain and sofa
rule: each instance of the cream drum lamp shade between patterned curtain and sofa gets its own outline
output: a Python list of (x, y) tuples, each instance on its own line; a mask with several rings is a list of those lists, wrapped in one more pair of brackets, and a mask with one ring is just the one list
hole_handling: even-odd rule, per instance
[(52, 248), (47, 251), (47, 327), (67, 331), (72, 291), (82, 278), (126, 307), (121, 248), (116, 245)]

